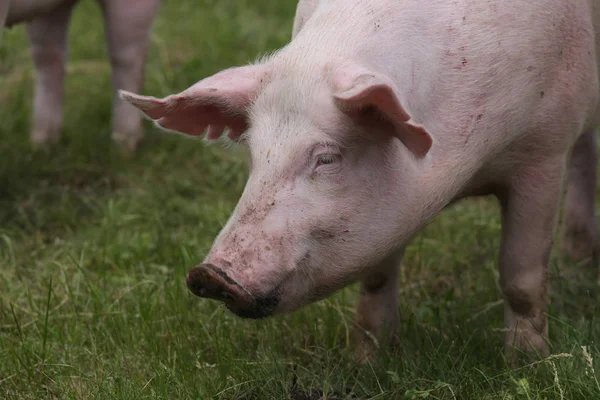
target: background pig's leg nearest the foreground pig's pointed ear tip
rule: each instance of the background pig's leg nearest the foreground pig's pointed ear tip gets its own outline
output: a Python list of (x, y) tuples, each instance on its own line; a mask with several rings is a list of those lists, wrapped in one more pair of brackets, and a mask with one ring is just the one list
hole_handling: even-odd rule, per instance
[(108, 51), (115, 89), (113, 140), (125, 150), (135, 150), (142, 140), (140, 113), (117, 95), (117, 89), (139, 93), (152, 22), (161, 0), (103, 0)]

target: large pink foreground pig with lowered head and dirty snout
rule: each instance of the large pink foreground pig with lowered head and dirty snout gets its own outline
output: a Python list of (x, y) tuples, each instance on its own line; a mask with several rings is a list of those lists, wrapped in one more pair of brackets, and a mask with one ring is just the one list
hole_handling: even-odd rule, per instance
[(228, 127), (249, 145), (248, 183), (192, 292), (263, 317), (361, 281), (358, 325), (386, 339), (410, 239), (448, 204), (495, 195), (506, 350), (546, 354), (567, 174), (566, 236), (596, 249), (597, 4), (300, 1), (274, 55), (164, 99), (122, 93), (164, 129)]

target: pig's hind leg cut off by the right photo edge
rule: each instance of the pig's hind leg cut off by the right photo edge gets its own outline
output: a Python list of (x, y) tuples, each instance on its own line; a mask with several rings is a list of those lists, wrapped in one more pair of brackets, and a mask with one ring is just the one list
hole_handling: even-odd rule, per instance
[(596, 226), (596, 130), (577, 139), (569, 163), (565, 197), (563, 251), (575, 260), (592, 259), (598, 251)]

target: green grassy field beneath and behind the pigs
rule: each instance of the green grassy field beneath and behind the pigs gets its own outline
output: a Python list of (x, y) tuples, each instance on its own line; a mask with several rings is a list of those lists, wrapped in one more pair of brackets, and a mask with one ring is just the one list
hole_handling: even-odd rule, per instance
[[(280, 47), (294, 9), (167, 1), (144, 92), (177, 92)], [(120, 156), (103, 34), (99, 8), (83, 0), (70, 30), (64, 136), (45, 152), (28, 147), (24, 28), (0, 45), (0, 398), (600, 399), (597, 286), (558, 253), (554, 356), (506, 367), (490, 199), (445, 211), (408, 249), (403, 346), (376, 365), (348, 355), (356, 287), (261, 321), (193, 297), (184, 276), (235, 206), (245, 150), (148, 125), (136, 157)], [(564, 271), (573, 277), (561, 279)]]

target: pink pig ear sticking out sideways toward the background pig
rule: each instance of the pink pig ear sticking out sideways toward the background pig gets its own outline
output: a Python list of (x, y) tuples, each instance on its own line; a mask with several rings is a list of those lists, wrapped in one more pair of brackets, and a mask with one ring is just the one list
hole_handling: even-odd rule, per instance
[(264, 65), (229, 68), (201, 80), (179, 94), (162, 99), (121, 90), (120, 96), (166, 130), (218, 139), (225, 128), (238, 140), (248, 128), (247, 109), (266, 72)]

